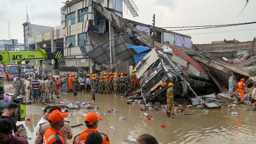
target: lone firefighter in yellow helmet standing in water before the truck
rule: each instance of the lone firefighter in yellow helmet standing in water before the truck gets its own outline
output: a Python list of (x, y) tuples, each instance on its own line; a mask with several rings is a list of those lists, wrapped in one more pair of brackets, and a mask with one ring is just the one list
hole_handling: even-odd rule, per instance
[(173, 83), (168, 84), (169, 88), (166, 91), (166, 103), (167, 103), (167, 117), (171, 117), (171, 111), (173, 109)]

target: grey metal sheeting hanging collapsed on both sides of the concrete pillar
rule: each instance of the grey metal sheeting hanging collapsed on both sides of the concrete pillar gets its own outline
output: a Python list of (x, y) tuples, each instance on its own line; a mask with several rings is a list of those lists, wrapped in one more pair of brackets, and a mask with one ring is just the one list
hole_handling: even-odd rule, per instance
[[(91, 52), (91, 57), (96, 60), (99, 64), (107, 65), (110, 64), (110, 49), (109, 42), (105, 42)], [(129, 61), (130, 65), (134, 65), (134, 59), (125, 43), (120, 39), (115, 40), (115, 59), (116, 61)]]

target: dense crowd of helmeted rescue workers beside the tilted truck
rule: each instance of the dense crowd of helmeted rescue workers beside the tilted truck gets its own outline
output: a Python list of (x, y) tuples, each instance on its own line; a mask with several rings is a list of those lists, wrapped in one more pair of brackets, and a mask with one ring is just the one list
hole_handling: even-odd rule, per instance
[(95, 93), (99, 94), (119, 94), (124, 97), (125, 92), (134, 91), (138, 87), (138, 79), (136, 71), (132, 71), (129, 77), (127, 73), (103, 73), (103, 74), (87, 74), (78, 80), (77, 76), (67, 74), (65, 77), (66, 92), (74, 92), (77, 95), (79, 90), (85, 92), (92, 91), (92, 100), (95, 100)]

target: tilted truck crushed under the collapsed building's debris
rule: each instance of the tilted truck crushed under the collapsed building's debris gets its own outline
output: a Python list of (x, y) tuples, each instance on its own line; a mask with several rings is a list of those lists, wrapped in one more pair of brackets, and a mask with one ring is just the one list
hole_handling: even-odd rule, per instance
[[(147, 100), (166, 98), (168, 83), (174, 83), (174, 95), (186, 97), (190, 88), (212, 89), (212, 80), (207, 71), (182, 50), (164, 45), (161, 49), (152, 49), (134, 69), (140, 81), (142, 93)], [(144, 96), (144, 95), (143, 95)]]

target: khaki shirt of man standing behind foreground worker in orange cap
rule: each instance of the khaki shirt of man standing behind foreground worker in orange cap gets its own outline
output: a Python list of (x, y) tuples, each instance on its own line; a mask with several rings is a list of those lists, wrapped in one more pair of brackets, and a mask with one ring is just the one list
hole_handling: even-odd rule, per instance
[[(49, 122), (46, 122), (46, 123), (42, 123), (39, 125), (39, 129), (38, 129), (38, 132), (37, 132), (37, 135), (36, 135), (36, 140), (35, 140), (35, 144), (42, 144), (43, 143), (43, 135), (44, 135), (44, 132), (49, 129), (50, 127), (50, 123)], [(64, 126), (60, 128), (60, 132), (61, 132), (61, 135), (65, 141), (65, 143), (67, 143), (67, 139), (71, 140), (72, 139), (72, 129), (71, 129), (71, 126), (69, 124), (68, 121), (65, 121), (64, 122)]]

